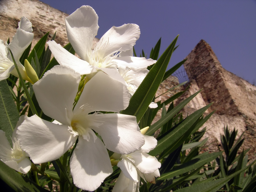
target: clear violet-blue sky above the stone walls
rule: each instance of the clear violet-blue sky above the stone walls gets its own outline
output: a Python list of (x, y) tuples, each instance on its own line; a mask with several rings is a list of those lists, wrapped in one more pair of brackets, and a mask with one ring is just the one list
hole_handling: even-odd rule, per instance
[(90, 5), (99, 16), (100, 38), (112, 26), (136, 23), (136, 53), (150, 54), (162, 37), (160, 54), (179, 34), (168, 68), (204, 39), (228, 71), (256, 84), (256, 0), (41, 0), (71, 14)]

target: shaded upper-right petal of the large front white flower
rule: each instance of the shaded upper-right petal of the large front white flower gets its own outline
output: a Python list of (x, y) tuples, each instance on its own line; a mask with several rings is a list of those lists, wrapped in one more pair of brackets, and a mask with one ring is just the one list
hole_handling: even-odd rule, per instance
[(129, 101), (126, 86), (100, 71), (84, 85), (74, 113), (86, 103), (92, 107), (92, 111), (119, 112), (128, 107)]

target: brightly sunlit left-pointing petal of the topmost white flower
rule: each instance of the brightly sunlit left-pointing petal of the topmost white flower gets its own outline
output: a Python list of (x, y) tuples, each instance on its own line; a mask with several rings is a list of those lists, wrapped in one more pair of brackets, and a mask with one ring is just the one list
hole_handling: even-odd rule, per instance
[(55, 41), (48, 41), (47, 44), (60, 65), (68, 66), (80, 75), (91, 73), (92, 66), (87, 61), (79, 59)]

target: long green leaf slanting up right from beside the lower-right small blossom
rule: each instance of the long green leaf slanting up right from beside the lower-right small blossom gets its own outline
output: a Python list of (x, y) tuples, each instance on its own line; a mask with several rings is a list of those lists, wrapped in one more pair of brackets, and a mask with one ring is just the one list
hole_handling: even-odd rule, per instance
[[(166, 132), (163, 135), (161, 135), (159, 138), (157, 138), (157, 146), (156, 146), (156, 148), (151, 150), (148, 154), (150, 154), (151, 156), (156, 156), (157, 154), (159, 154), (160, 152), (162, 152), (164, 149), (168, 148), (172, 144), (174, 144), (174, 145), (172, 145), (173, 146), (172, 151), (175, 149), (174, 146), (177, 146), (177, 147), (180, 146), (181, 143), (179, 141), (181, 141), (180, 139), (182, 138), (182, 135), (185, 134), (189, 130), (189, 128), (194, 125), (194, 123), (197, 121), (197, 119), (211, 105), (212, 105), (212, 103), (210, 103), (207, 106), (205, 106), (205, 107), (195, 111), (190, 116), (188, 116), (186, 119), (184, 119), (174, 130), (171, 129), (168, 132)], [(172, 111), (170, 111), (169, 113), (171, 113), (171, 112)], [(194, 126), (196, 126), (196, 124)], [(191, 132), (192, 131), (193, 130), (191, 130)], [(187, 139), (187, 138), (185, 138), (185, 139)]]

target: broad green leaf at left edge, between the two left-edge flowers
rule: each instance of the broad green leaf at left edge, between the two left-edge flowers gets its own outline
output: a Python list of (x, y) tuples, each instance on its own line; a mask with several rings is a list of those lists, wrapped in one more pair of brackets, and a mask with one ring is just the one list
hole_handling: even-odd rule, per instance
[(5, 132), (5, 136), (12, 146), (12, 132), (20, 118), (20, 114), (12, 99), (12, 93), (6, 80), (0, 81), (0, 96), (0, 128)]

